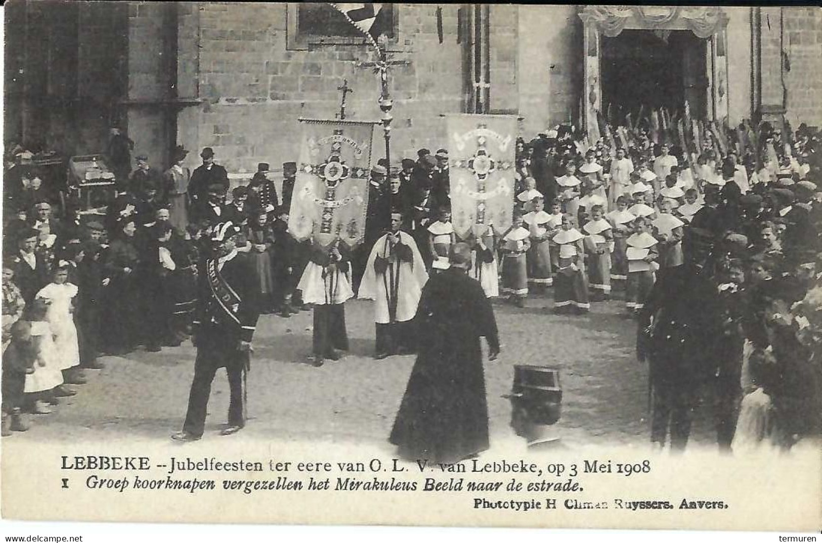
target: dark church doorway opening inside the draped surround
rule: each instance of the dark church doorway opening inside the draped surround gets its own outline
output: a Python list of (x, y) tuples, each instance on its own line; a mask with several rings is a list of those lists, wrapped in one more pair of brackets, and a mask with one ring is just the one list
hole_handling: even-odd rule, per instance
[(688, 101), (690, 114), (704, 118), (708, 108), (708, 40), (690, 30), (624, 30), (602, 37), (603, 113), (621, 122), (666, 108), (674, 113)]

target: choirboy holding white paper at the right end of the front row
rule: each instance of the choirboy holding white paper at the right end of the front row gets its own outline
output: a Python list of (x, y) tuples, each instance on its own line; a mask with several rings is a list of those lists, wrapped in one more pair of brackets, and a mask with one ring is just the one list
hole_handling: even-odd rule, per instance
[(653, 288), (653, 272), (658, 267), (657, 240), (650, 234), (649, 229), (649, 219), (637, 217), (634, 220), (634, 233), (626, 240), (626, 306), (632, 315), (638, 314), (643, 308), (645, 299)]

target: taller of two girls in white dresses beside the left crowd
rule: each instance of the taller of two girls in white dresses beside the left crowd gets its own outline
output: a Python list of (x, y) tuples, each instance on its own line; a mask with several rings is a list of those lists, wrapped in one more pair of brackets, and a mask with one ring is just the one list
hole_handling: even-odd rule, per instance
[(76, 377), (80, 370), (77, 367), (80, 365), (80, 347), (72, 315), (78, 289), (74, 283), (68, 283), (68, 269), (68, 263), (61, 260), (53, 272), (52, 283), (40, 289), (37, 297), (48, 300), (46, 320), (52, 330), (58, 369), (62, 370), (63, 380), (79, 383)]

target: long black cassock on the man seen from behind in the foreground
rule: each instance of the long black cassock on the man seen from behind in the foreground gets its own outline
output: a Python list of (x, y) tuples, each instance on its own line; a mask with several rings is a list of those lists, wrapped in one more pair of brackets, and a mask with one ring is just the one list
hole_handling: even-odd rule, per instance
[(455, 462), (488, 449), (480, 337), (499, 349), (496, 320), (480, 284), (451, 268), (420, 297), (418, 357), (389, 441), (407, 458)]

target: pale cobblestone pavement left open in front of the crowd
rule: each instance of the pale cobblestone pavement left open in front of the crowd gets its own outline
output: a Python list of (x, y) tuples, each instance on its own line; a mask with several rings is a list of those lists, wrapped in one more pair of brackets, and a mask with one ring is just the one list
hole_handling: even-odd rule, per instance
[[(495, 301), (502, 353), (496, 362), (485, 362), (492, 448), (515, 439), (510, 403), (502, 398), (510, 391), (515, 364), (561, 370), (564, 398), (556, 429), (564, 444), (647, 444), (647, 366), (635, 359), (635, 323), (622, 314), (622, 302), (595, 303), (585, 316), (552, 315), (551, 306), (550, 292), (530, 298), (524, 308)], [(372, 311), (371, 302), (346, 304), (351, 351), (321, 368), (307, 363), (311, 311), (289, 319), (262, 315), (248, 376), (250, 420), (237, 438), (385, 447), (414, 357), (372, 358)], [(33, 416), (33, 428), (12, 439), (169, 439), (185, 416), (194, 355), (191, 343), (184, 343), (162, 352), (104, 357), (104, 370), (86, 370), (89, 383), (76, 387), (75, 397), (64, 398), (50, 415)], [(206, 434), (224, 424), (228, 395), (220, 371)], [(708, 416), (708, 409), (700, 410), (695, 441), (712, 440)]]

